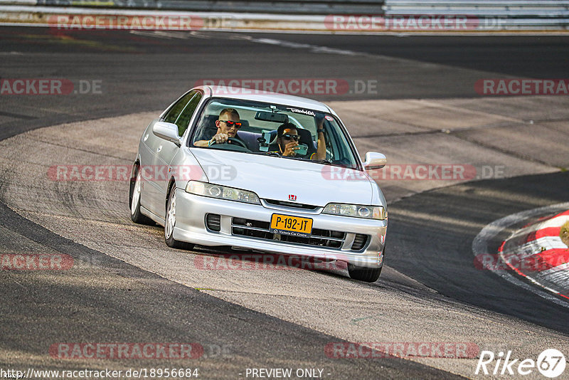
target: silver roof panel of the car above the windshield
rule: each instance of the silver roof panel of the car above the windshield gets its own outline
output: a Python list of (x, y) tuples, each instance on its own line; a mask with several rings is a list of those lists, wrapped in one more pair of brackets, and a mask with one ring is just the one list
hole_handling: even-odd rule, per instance
[(292, 107), (308, 108), (321, 112), (330, 112), (328, 106), (317, 100), (294, 95), (271, 93), (269, 91), (255, 90), (254, 88), (238, 88), (218, 85), (198, 86), (206, 94), (212, 97), (225, 97), (228, 99), (257, 100), (259, 102), (290, 105)]

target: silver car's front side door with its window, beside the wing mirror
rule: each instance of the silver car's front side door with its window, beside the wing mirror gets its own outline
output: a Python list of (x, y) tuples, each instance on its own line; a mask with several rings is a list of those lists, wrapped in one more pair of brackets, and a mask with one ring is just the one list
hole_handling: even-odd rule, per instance
[[(198, 90), (193, 90), (184, 96), (183, 102), (181, 104), (176, 103), (171, 112), (164, 115), (165, 122), (171, 122), (178, 126), (178, 135), (181, 138), (184, 136), (186, 130), (188, 130), (189, 124), (192, 120), (194, 112), (203, 97), (203, 94)], [(181, 107), (181, 106), (184, 107)], [(169, 172), (168, 169), (174, 156), (179, 153), (180, 147), (174, 144), (174, 142), (166, 141), (165, 139), (160, 139), (158, 147), (156, 147), (156, 154), (154, 158), (154, 170), (156, 172), (155, 178), (155, 188), (156, 194), (156, 215), (161, 218), (166, 214), (166, 191), (168, 190), (169, 184)]]

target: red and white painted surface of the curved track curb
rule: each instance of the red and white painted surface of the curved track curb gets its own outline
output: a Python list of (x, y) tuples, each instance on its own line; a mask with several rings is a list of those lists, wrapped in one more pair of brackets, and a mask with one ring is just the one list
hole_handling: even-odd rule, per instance
[[(514, 232), (499, 248), (506, 265), (518, 275), (569, 299), (569, 248), (559, 237), (569, 211)], [(523, 263), (523, 265), (520, 265)]]

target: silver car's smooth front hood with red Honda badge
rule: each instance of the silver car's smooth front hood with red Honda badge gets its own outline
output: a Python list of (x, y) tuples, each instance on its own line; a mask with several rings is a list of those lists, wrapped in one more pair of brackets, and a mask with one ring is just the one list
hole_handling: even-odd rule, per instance
[(254, 191), (261, 199), (326, 206), (371, 204), (371, 180), (361, 171), (297, 159), (193, 148), (212, 184)]

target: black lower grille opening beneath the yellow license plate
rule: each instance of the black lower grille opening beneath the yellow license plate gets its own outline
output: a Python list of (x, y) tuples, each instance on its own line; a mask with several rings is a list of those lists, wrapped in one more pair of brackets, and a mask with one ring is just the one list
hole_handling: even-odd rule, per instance
[[(231, 221), (231, 233), (238, 236), (248, 236), (266, 240), (275, 240), (275, 233), (270, 233), (270, 223), (253, 221), (244, 218), (233, 218)], [(280, 235), (281, 242), (303, 244), (307, 246), (321, 246), (339, 249), (344, 244), (346, 233), (343, 231), (321, 230), (312, 228), (309, 238), (299, 236)]]

